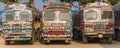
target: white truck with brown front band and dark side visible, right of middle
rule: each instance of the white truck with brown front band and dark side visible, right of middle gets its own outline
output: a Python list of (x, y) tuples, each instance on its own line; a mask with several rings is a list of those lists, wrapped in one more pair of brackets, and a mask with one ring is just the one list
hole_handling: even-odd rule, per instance
[(112, 6), (107, 3), (89, 3), (73, 16), (73, 38), (81, 39), (85, 44), (92, 39), (112, 43), (113, 34), (114, 16)]

